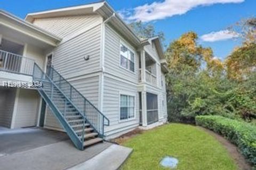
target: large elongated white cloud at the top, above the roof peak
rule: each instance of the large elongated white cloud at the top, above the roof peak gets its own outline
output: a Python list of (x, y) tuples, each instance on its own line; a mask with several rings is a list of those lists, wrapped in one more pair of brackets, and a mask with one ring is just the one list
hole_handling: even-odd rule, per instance
[(165, 0), (135, 7), (119, 12), (124, 18), (132, 21), (154, 21), (165, 19), (173, 15), (185, 14), (197, 6), (225, 3), (242, 3), (245, 0)]

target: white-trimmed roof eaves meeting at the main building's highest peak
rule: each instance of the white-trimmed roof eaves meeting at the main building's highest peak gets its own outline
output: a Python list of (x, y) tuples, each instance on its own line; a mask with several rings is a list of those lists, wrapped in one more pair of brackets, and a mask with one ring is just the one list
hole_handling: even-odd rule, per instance
[(127, 40), (129, 40), (130, 43), (132, 43), (134, 46), (141, 45), (140, 39), (135, 35), (133, 30), (122, 20), (121, 16), (116, 14), (116, 12), (109, 6), (107, 2), (91, 3), (43, 12), (29, 13), (27, 14), (25, 20), (33, 23), (35, 19), (52, 18), (58, 16), (75, 16), (83, 14), (98, 14), (105, 20), (111, 16), (115, 16), (111, 18), (108, 23), (117, 29), (117, 31), (121, 33)]

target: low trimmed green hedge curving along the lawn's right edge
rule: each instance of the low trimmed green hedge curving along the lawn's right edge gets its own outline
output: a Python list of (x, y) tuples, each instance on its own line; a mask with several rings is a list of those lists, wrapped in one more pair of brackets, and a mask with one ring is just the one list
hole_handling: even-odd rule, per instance
[(196, 116), (196, 124), (234, 143), (256, 169), (256, 126), (222, 116)]

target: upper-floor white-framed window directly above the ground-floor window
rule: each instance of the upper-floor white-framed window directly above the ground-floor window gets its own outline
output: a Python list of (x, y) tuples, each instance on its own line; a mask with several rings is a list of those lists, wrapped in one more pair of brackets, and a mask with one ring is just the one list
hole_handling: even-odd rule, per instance
[(120, 55), (121, 66), (134, 72), (134, 53), (123, 44), (120, 44)]

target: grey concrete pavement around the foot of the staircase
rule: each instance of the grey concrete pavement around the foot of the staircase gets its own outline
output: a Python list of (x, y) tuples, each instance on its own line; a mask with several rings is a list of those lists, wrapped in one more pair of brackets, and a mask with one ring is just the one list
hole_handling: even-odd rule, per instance
[(65, 133), (44, 129), (25, 131), (0, 133), (0, 170), (114, 170), (132, 151), (108, 142), (81, 151)]

